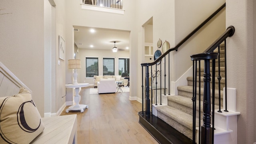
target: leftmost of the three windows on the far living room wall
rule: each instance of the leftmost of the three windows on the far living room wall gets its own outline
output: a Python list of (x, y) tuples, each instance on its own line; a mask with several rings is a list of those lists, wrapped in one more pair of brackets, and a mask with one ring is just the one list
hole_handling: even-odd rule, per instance
[(98, 76), (98, 58), (86, 58), (86, 77)]

